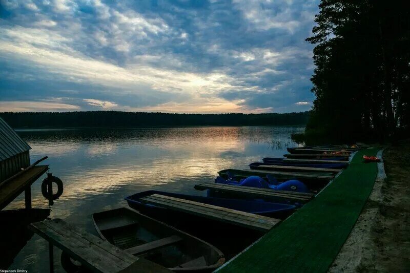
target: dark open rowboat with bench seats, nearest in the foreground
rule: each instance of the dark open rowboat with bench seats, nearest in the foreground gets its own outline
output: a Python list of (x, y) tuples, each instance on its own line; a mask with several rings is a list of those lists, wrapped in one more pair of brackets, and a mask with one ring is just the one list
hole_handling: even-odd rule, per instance
[(129, 208), (92, 216), (101, 238), (173, 271), (213, 271), (225, 262), (213, 245)]

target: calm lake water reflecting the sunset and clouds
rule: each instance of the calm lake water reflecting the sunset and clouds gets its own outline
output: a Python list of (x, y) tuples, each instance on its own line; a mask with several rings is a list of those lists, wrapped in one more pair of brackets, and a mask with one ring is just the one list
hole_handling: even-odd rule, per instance
[[(96, 234), (91, 214), (127, 206), (124, 197), (147, 190), (202, 195), (194, 185), (213, 181), (217, 172), (266, 156), (281, 157), (295, 146), (291, 133), (303, 127), (197, 127), (166, 129), (81, 129), (19, 131), (31, 146), (31, 161), (48, 155), (50, 172), (64, 182), (64, 194), (50, 218)], [(47, 208), (40, 191), (45, 175), (32, 186), (33, 207)], [(6, 209), (24, 207), (24, 194)], [(55, 271), (63, 272), (55, 251)], [(48, 270), (48, 244), (34, 235), (10, 269)]]

